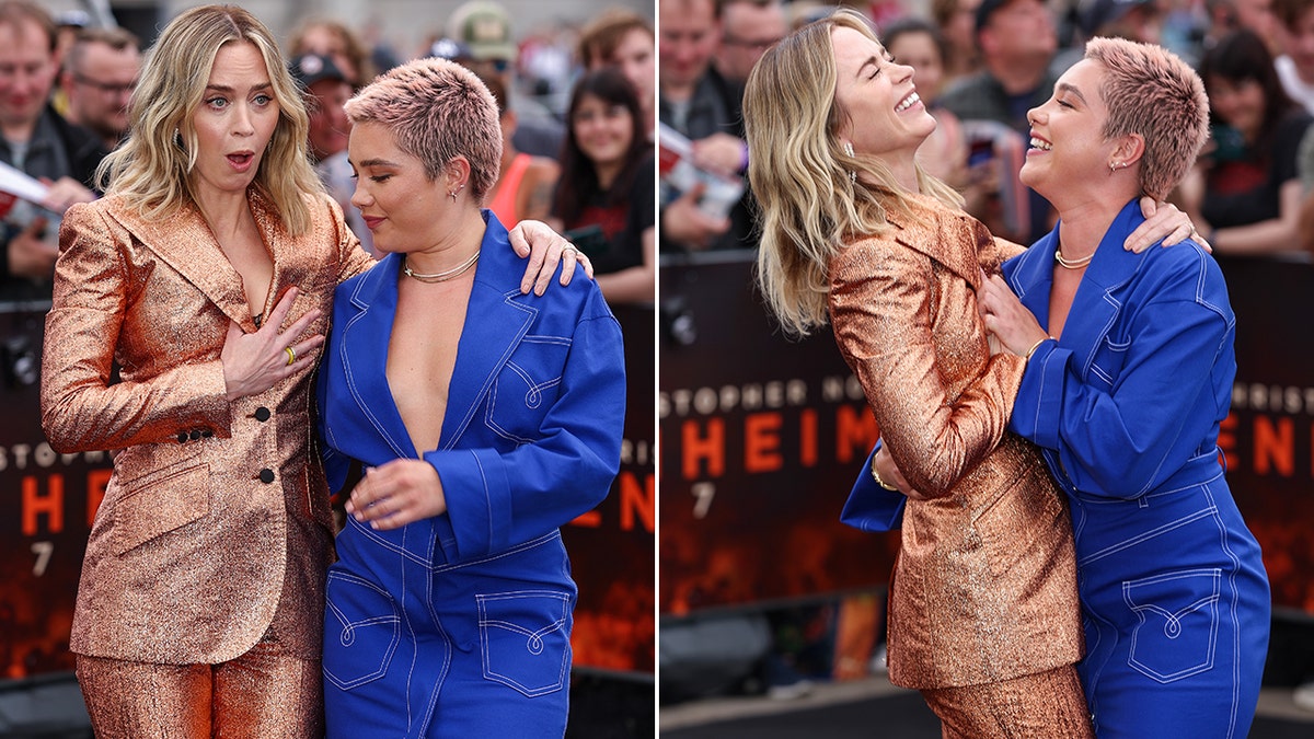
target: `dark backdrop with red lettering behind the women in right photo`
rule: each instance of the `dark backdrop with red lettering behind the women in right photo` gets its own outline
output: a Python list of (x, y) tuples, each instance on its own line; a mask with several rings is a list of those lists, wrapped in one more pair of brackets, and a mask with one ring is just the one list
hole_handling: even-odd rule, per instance
[[(899, 534), (838, 521), (878, 435), (861, 388), (828, 331), (779, 335), (752, 254), (708, 256), (669, 259), (660, 276), (664, 622), (883, 586)], [(1276, 611), (1314, 615), (1314, 266), (1219, 263), (1238, 317), (1227, 480)]]

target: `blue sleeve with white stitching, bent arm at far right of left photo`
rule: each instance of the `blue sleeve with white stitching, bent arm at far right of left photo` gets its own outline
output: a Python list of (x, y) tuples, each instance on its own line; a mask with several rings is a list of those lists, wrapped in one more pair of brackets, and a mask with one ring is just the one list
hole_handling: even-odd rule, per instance
[(532, 540), (607, 497), (620, 468), (625, 375), (620, 325), (600, 309), (574, 327), (560, 393), (536, 439), (512, 451), (424, 455), (443, 483), (460, 559)]

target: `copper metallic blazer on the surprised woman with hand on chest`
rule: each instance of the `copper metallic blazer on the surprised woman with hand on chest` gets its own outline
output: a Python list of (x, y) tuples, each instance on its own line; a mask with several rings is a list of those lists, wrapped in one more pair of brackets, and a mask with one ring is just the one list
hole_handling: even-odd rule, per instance
[[(301, 289), (285, 325), (369, 256), (325, 195), (290, 237), (248, 203), (273, 258), (263, 314)], [(120, 197), (75, 205), (59, 231), (42, 358), (42, 426), (62, 452), (113, 450), (74, 614), (74, 652), (219, 663), (269, 632), (318, 659), (332, 518), (311, 448), (311, 372), (234, 402), (219, 351), (230, 321), (256, 326), (242, 281), (200, 212), (150, 222)], [(117, 363), (121, 381), (112, 381)]]

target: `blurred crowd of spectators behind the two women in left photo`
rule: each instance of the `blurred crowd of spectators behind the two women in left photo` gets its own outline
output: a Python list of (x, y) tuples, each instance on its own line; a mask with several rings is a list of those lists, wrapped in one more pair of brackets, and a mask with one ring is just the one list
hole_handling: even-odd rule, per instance
[[(594, 191), (607, 191), (607, 206), (619, 208), (619, 213), (603, 221), (590, 221), (593, 214), (585, 213), (585, 222), (564, 227), (587, 229), (589, 238), (578, 243), (598, 262), (602, 274), (641, 267), (643, 276), (622, 279), (622, 285), (629, 287), (619, 292), (604, 288), (608, 300), (652, 301), (656, 247), (645, 252), (643, 241), (656, 239), (654, 216), (650, 209), (628, 213), (624, 208), (635, 200), (628, 175), (650, 168), (641, 160), (650, 154), (650, 146), (620, 149), (628, 159), (620, 162), (627, 176), (619, 185), (599, 184), (610, 178), (599, 176), (590, 159), (582, 160), (573, 178), (562, 179), (561, 162), (578, 149), (573, 141), (579, 131), (565, 104), (553, 103), (568, 100), (583, 72), (616, 67), (633, 88), (644, 141), (650, 143), (656, 79), (650, 16), (611, 7), (560, 34), (569, 41), (535, 42), (533, 37), (512, 33), (506, 7), (472, 0), (435, 25), (439, 30), (414, 55), (398, 53), (397, 46), (381, 39), (368, 41), (369, 29), (332, 17), (307, 17), (280, 39), (293, 79), (306, 95), (315, 171), (365, 250), (373, 252), (372, 235), (359, 209), (351, 205), (355, 183), (347, 162), (350, 124), (343, 104), (377, 74), (411, 57), (444, 58), (476, 71), (498, 97), (507, 133), (503, 176), (509, 187), (498, 188), (489, 205), (509, 222), (532, 218), (561, 224), (562, 213), (552, 212), (555, 201), (587, 200)], [(49, 185), (43, 201), (18, 199), (5, 208), (0, 300), (42, 301), (50, 297), (59, 220), (68, 205), (100, 195), (95, 168), (127, 134), (129, 99), (145, 47), (152, 39), (97, 25), (81, 12), (51, 16), (37, 3), (7, 3), (0, 8), (0, 34), (5, 41), (0, 49), (0, 84), (5, 89), (0, 96), (0, 159)], [(566, 49), (565, 43), (573, 46)], [(562, 89), (556, 91), (556, 97), (544, 95), (552, 88)], [(600, 164), (603, 170), (608, 166)], [(570, 217), (579, 220), (578, 214)], [(627, 218), (639, 222), (627, 224)], [(648, 237), (641, 235), (645, 231)]]

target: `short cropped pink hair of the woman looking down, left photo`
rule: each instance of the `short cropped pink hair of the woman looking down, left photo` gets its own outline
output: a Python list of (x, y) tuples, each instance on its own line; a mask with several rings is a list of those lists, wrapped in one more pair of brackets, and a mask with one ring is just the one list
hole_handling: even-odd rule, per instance
[(430, 180), (465, 156), (470, 195), (480, 205), (487, 200), (502, 162), (502, 126), (493, 93), (474, 72), (447, 59), (417, 59), (374, 78), (344, 109), (352, 124), (388, 126)]

